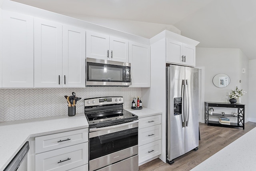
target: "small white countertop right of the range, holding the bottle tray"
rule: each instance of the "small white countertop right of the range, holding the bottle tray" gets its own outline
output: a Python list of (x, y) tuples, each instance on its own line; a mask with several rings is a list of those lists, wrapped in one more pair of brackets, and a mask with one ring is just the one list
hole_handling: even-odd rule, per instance
[(142, 117), (148, 117), (148, 116), (153, 116), (153, 115), (159, 115), (162, 114), (161, 111), (155, 110), (155, 109), (150, 109), (148, 107), (142, 107), (142, 109), (131, 109), (131, 108), (124, 108), (127, 111), (130, 111), (131, 113), (135, 114), (138, 116), (138, 118)]

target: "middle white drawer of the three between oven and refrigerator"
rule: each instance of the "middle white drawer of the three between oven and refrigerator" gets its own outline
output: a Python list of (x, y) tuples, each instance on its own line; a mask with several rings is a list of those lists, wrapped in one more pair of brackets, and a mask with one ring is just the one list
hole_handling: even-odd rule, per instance
[(143, 145), (161, 139), (161, 124), (139, 129), (138, 145)]

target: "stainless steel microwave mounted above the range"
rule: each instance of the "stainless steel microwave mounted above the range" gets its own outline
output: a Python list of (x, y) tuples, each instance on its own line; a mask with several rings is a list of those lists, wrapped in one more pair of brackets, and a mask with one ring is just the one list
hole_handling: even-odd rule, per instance
[(131, 64), (86, 58), (86, 86), (129, 86)]

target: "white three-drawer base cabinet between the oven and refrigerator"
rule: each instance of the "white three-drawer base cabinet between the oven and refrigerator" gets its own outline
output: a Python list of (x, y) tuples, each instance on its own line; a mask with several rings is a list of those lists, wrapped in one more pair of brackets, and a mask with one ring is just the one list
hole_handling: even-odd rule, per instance
[(139, 165), (161, 154), (161, 127), (161, 115), (139, 118)]

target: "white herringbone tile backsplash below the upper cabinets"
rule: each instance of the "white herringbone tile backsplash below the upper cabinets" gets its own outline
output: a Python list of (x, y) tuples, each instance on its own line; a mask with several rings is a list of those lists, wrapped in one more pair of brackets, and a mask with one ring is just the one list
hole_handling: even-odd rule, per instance
[[(49, 89), (0, 89), (0, 121), (14, 121), (68, 114), (64, 95), (82, 97), (76, 113), (84, 112), (84, 100), (91, 97), (123, 96), (124, 107), (131, 106), (131, 97), (142, 95), (141, 88), (86, 87)], [(143, 99), (142, 99), (143, 100)]]

